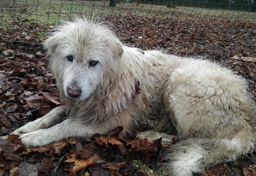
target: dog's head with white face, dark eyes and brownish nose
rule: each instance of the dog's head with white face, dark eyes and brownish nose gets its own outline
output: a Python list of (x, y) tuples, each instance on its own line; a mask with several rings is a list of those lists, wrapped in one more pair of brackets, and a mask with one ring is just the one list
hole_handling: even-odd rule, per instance
[(45, 40), (44, 47), (51, 54), (58, 88), (67, 97), (87, 99), (103, 80), (114, 81), (106, 76), (118, 77), (122, 44), (102, 24), (82, 19), (64, 22)]

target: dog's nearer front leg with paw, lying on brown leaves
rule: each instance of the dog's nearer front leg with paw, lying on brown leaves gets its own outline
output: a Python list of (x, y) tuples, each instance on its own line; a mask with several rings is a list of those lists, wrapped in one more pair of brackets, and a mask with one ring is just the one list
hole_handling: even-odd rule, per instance
[(67, 118), (60, 124), (54, 125), (48, 129), (39, 129), (20, 135), (22, 143), (31, 147), (38, 147), (63, 140), (65, 138), (83, 137), (91, 138), (97, 129), (83, 124), (78, 118)]

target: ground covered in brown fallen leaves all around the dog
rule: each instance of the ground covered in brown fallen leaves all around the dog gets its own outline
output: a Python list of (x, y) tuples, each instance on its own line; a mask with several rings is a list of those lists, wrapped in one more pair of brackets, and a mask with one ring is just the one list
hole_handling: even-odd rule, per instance
[[(179, 56), (200, 56), (228, 67), (248, 80), (256, 97), (256, 24), (207, 17), (111, 16), (101, 19), (127, 45), (163, 50)], [(0, 33), (0, 135), (60, 106), (58, 91), (49, 70), (49, 57), (40, 44), (38, 31), (51, 26), (22, 21), (15, 30)], [(19, 30), (22, 29), (22, 30)], [(25, 29), (25, 31), (23, 31)], [(13, 44), (13, 40), (15, 40)], [(11, 41), (11, 42), (10, 42)], [(91, 141), (67, 140), (45, 147), (28, 148), (17, 136), (0, 140), (1, 175), (154, 175), (162, 159), (161, 141), (127, 139), (118, 127)], [(205, 170), (207, 175), (256, 175), (256, 158)], [(146, 164), (147, 166), (145, 166)]]

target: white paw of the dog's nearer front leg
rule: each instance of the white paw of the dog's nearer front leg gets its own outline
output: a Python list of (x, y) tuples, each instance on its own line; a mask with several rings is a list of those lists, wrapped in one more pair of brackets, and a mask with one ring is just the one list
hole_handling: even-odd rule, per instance
[(40, 147), (52, 143), (54, 140), (51, 136), (47, 134), (44, 130), (38, 130), (33, 132), (28, 132), (25, 134), (20, 134), (19, 139), (22, 143), (29, 147)]

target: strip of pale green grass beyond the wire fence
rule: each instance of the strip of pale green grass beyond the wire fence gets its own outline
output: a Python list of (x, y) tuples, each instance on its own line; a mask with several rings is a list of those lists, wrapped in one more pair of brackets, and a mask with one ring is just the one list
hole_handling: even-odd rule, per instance
[(236, 10), (222, 10), (211, 8), (196, 8), (178, 6), (177, 8), (166, 8), (152, 4), (118, 3), (116, 7), (109, 6), (109, 1), (58, 1), (58, 0), (3, 0), (3, 13), (1, 27), (4, 21), (18, 19), (24, 24), (44, 23), (53, 25), (61, 20), (70, 20), (72, 17), (100, 17), (101, 15), (142, 15), (168, 17), (172, 13), (180, 13), (205, 17), (221, 17), (230, 19), (255, 20), (255, 12)]

